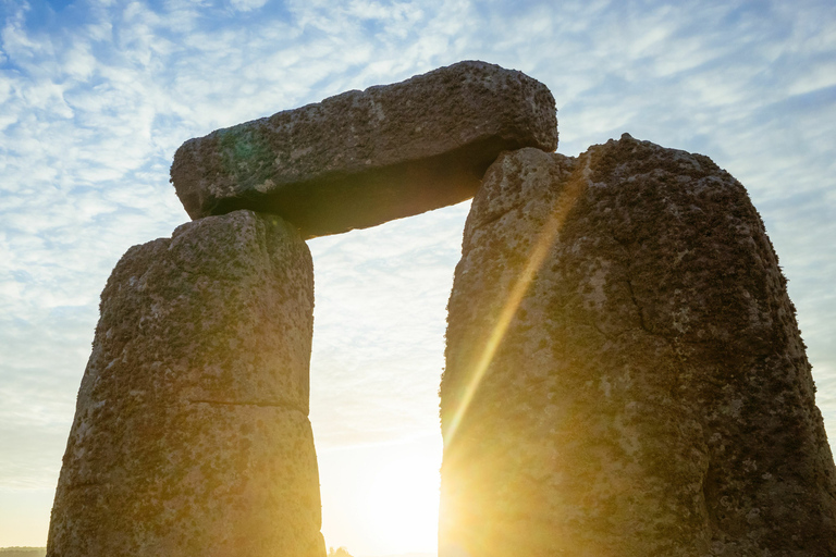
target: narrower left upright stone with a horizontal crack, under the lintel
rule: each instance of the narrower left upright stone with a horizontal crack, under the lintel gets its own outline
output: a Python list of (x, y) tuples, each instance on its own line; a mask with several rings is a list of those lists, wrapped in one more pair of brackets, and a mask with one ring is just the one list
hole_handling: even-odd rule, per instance
[(54, 557), (323, 557), (307, 246), (236, 211), (132, 247), (101, 296)]

